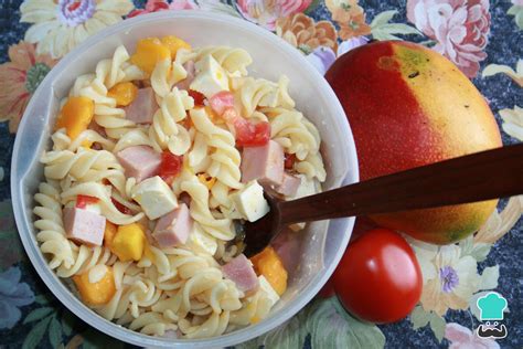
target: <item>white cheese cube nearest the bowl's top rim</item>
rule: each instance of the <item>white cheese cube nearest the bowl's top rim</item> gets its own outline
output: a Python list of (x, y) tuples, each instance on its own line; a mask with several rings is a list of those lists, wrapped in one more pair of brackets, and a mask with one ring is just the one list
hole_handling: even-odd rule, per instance
[(190, 88), (198, 91), (205, 97), (211, 98), (221, 91), (228, 91), (227, 72), (213, 59), (206, 55), (198, 62), (196, 76), (192, 81)]

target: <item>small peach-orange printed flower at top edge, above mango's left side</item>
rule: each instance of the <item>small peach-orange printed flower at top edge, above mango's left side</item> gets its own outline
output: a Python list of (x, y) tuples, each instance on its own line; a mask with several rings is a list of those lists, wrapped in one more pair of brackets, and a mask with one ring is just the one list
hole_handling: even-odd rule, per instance
[(371, 27), (365, 23), (365, 12), (357, 0), (327, 0), (325, 6), (332, 13), (332, 20), (340, 25), (341, 40), (371, 33)]

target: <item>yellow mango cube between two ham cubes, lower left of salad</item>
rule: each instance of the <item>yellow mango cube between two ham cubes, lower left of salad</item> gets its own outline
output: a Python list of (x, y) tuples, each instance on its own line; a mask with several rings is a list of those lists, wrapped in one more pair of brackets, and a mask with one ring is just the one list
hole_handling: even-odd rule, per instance
[(132, 223), (118, 226), (110, 251), (121, 262), (139, 261), (143, 255), (145, 245), (146, 234), (142, 228), (137, 223)]

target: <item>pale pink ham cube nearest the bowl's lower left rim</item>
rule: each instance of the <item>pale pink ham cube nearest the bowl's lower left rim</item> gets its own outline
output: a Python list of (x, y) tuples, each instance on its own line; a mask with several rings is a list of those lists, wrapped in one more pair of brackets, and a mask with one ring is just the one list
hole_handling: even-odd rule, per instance
[(106, 219), (103, 215), (84, 209), (66, 208), (63, 219), (68, 239), (102, 246), (106, 224)]

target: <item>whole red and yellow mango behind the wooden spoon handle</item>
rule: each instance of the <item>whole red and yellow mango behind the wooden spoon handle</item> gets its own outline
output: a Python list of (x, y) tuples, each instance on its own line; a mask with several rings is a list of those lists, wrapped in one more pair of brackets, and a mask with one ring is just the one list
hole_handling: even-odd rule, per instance
[[(502, 146), (492, 112), (474, 85), (421, 45), (371, 43), (341, 56), (325, 77), (354, 134), (362, 180)], [(497, 202), (372, 219), (415, 239), (448, 244), (477, 231)]]

